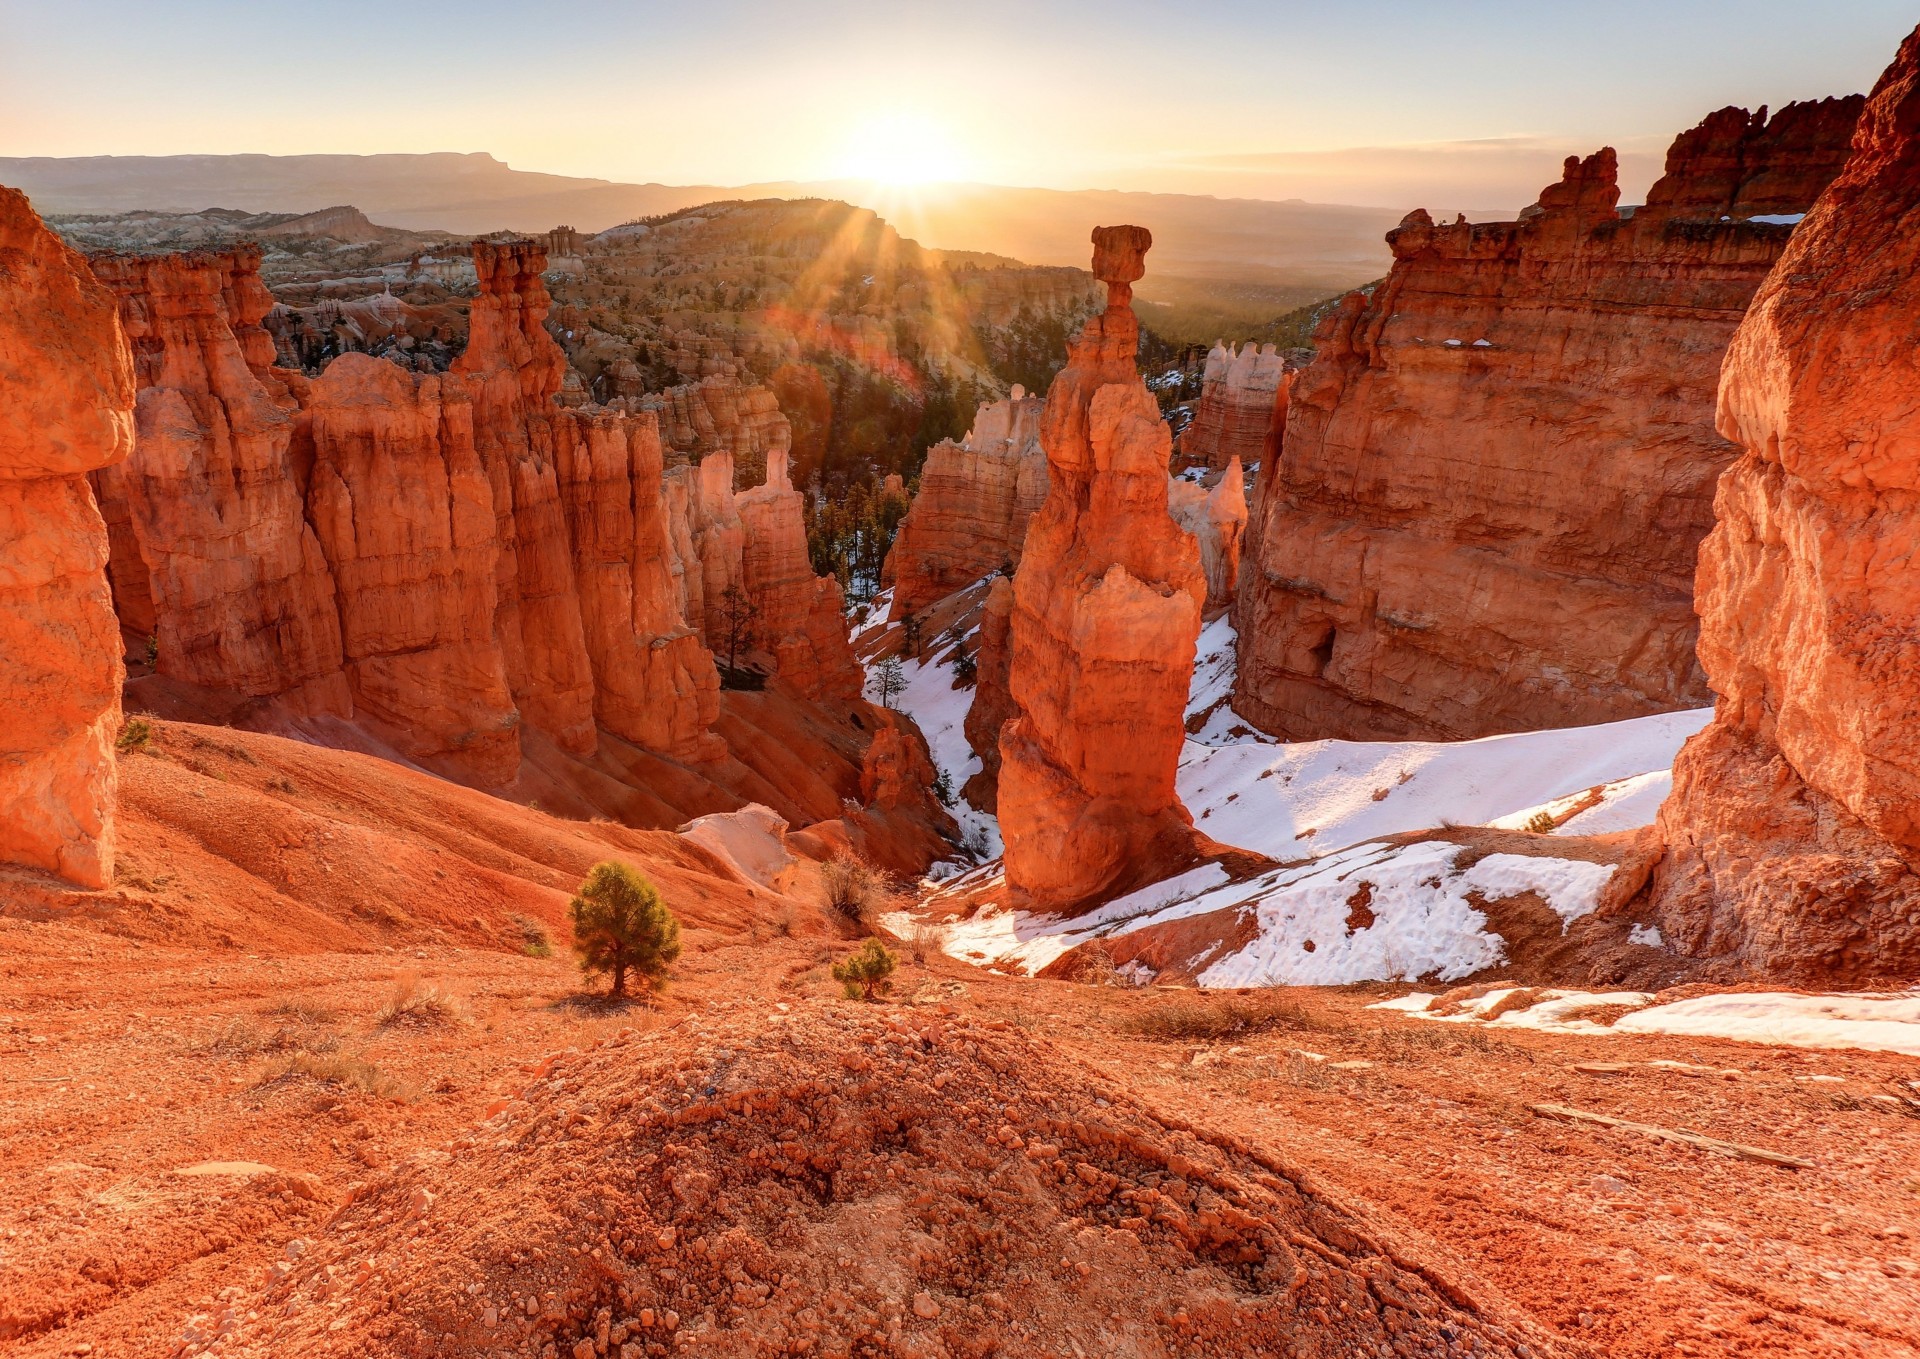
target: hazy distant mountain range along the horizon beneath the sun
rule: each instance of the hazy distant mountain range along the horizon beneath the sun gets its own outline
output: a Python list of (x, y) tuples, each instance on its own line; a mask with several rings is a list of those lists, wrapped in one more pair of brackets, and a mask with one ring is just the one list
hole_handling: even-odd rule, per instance
[(1298, 200), (993, 184), (618, 184), (516, 171), (480, 152), (0, 157), (0, 184), (23, 188), (42, 213), (309, 213), (351, 203), (386, 226), (459, 234), (561, 223), (597, 232), (716, 200), (837, 198), (872, 207), (924, 246), (1081, 267), (1091, 228), (1125, 221), (1154, 232), (1140, 298), (1206, 317), (1196, 322), (1204, 326), (1271, 319), (1379, 278), (1390, 263), (1382, 236), (1404, 215)]

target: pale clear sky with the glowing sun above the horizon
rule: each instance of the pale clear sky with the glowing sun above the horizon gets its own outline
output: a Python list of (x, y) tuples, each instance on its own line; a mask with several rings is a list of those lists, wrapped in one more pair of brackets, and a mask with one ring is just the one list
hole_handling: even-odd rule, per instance
[(0, 0), (0, 155), (492, 152), (666, 184), (881, 179), (1632, 200), (1724, 104), (1870, 88), (1901, 0)]

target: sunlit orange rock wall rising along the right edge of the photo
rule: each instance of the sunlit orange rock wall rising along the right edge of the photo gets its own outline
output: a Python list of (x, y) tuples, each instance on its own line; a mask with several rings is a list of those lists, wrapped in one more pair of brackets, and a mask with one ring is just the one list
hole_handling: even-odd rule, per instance
[(1699, 555), (1715, 722), (1674, 766), (1653, 900), (1684, 952), (1920, 967), (1920, 31), (1726, 355), (1740, 443)]

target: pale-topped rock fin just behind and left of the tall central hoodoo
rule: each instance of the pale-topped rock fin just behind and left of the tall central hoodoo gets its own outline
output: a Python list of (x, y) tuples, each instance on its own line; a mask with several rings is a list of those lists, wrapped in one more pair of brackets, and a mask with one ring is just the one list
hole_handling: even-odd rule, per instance
[(1044, 405), (1016, 386), (1004, 401), (981, 403), (960, 443), (927, 449), (920, 493), (887, 553), (889, 616), (904, 618), (1020, 562), (1027, 522), (1046, 499)]

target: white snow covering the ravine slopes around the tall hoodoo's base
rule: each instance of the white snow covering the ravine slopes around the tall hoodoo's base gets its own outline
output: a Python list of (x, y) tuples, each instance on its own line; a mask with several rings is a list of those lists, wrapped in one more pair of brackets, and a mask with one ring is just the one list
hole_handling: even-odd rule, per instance
[[(883, 607), (876, 601), (876, 616)], [(904, 689), (893, 703), (920, 724), (935, 764), (960, 787), (979, 760), (962, 729), (973, 695), (954, 687), (954, 651), (943, 639), (924, 662), (902, 664)], [(1645, 825), (1680, 745), (1711, 718), (1703, 708), (1482, 741), (1288, 745), (1229, 706), (1233, 651), (1225, 618), (1200, 633), (1179, 791), (1202, 831), (1283, 868), (1229, 883), (1208, 866), (1066, 919), (995, 904), (1004, 881), (989, 862), (950, 885), (989, 902), (948, 927), (950, 954), (1039, 971), (1087, 941), (1217, 912), (1194, 935), (1198, 952), (1183, 960), (1204, 987), (1467, 977), (1507, 958), (1478, 902), (1530, 893), (1565, 929), (1596, 908), (1613, 866), (1582, 852), (1551, 854), (1551, 841), (1530, 843), (1540, 854), (1475, 854), (1438, 837), (1379, 841), (1442, 825), (1534, 829), (1542, 814), (1563, 835)], [(872, 685), (870, 697), (877, 697)], [(987, 854), (998, 854), (995, 820), (964, 804), (956, 812)], [(895, 923), (904, 929), (906, 918)]]

